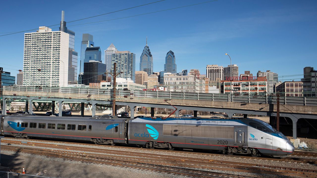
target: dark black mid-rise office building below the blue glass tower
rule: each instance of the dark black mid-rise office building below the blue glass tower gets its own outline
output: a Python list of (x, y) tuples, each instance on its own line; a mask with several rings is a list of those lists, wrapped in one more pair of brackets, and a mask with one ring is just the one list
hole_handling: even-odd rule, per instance
[(105, 72), (106, 64), (101, 63), (101, 61), (90, 60), (89, 62), (84, 62), (82, 84), (89, 85), (90, 83), (100, 83), (106, 80)]

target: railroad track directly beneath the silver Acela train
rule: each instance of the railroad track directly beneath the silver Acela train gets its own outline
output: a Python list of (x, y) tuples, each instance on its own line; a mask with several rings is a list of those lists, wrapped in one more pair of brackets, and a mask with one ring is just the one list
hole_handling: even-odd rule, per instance
[[(12, 137), (8, 137), (11, 138)], [(3, 140), (5, 141), (5, 140)], [(11, 141), (11, 140), (10, 140)], [(14, 140), (12, 140), (13, 142)], [(30, 142), (30, 141), (39, 141), (39, 142), (52, 142), (53, 143), (66, 143), (66, 144), (78, 144), (78, 145), (95, 145), (92, 143), (76, 143), (76, 142), (64, 142), (64, 141), (54, 141), (54, 140), (38, 140), (38, 139), (25, 139), (25, 142)], [(21, 141), (14, 141), (16, 143), (20, 143)], [(43, 146), (45, 143), (43, 143)], [(51, 145), (51, 144), (47, 144)], [(140, 147), (127, 147), (127, 146), (111, 146), (111, 145), (103, 145), (103, 144), (98, 144), (98, 146), (102, 147), (111, 147), (111, 148), (125, 148), (125, 149), (137, 149), (137, 150), (149, 150), (145, 148), (140, 148)], [(259, 159), (259, 160), (270, 160), (270, 161), (285, 161), (285, 162), (299, 162), (299, 163), (305, 163), (305, 164), (317, 164), (317, 155), (315, 152), (308, 152), (308, 151), (295, 151), (294, 155), (296, 156), (312, 156), (316, 157), (316, 159), (309, 159), (309, 158), (298, 158), (298, 157), (286, 157), (286, 158), (272, 158), (272, 157), (251, 157), (251, 156), (243, 156), (243, 155), (224, 155), (220, 153), (210, 153), (210, 152), (194, 152), (194, 151), (178, 151), (178, 150), (166, 150), (166, 149), (156, 149), (157, 151), (162, 151), (162, 152), (174, 152), (174, 153), (187, 153), (187, 154), (197, 154), (197, 155), (208, 155), (208, 156), (227, 156), (227, 157), (236, 157), (236, 158), (245, 158), (245, 159)]]

